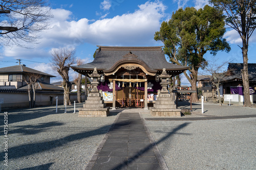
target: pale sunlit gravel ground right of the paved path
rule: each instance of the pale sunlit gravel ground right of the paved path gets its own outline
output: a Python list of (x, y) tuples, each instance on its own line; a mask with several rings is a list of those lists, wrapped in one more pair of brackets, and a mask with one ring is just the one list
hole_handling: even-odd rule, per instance
[[(200, 104), (193, 105), (193, 111), (201, 112), (200, 107)], [(204, 107), (207, 110), (204, 114), (183, 117), (256, 114), (256, 108), (242, 106), (205, 104)], [(141, 115), (152, 117), (150, 114)], [(256, 118), (146, 120), (146, 124), (169, 169), (256, 168)]]

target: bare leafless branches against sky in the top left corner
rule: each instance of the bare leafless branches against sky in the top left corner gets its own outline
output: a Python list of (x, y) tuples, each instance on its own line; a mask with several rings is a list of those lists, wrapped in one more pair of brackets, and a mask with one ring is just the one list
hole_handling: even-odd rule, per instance
[(36, 43), (38, 32), (50, 29), (51, 8), (44, 0), (4, 0), (0, 2), (0, 45), (24, 46), (21, 41)]

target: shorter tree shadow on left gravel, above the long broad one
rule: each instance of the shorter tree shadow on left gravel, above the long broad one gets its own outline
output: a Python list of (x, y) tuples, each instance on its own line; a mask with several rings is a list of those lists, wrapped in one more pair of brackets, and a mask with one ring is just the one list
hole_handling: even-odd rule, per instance
[(62, 126), (62, 125), (64, 124), (54, 121), (54, 122), (48, 122), (48, 123), (41, 123), (38, 125), (13, 126), (12, 128), (18, 128), (18, 129), (9, 131), (9, 134), (20, 133), (23, 135), (33, 135), (33, 134), (41, 133), (47, 130), (48, 128), (55, 127), (55, 126)]

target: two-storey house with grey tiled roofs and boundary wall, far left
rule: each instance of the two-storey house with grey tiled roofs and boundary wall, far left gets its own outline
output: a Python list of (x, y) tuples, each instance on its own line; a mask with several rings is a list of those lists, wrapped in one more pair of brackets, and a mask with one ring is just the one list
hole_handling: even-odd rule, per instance
[(28, 85), (24, 78), (27, 74), (39, 75), (35, 83), (36, 105), (63, 103), (63, 88), (50, 84), (52, 76), (25, 65), (0, 68), (0, 101), (2, 108), (28, 107)]

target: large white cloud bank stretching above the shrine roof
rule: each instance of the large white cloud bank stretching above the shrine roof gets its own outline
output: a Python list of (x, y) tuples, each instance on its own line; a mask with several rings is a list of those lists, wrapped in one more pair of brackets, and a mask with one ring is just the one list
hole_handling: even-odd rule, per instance
[(146, 46), (157, 43), (154, 34), (161, 26), (166, 7), (161, 2), (146, 2), (133, 13), (113, 18), (71, 20), (72, 12), (53, 9), (52, 29), (42, 31), (40, 43), (32, 49), (5, 47), (4, 56), (14, 58), (49, 58), (51, 48), (92, 45)]

